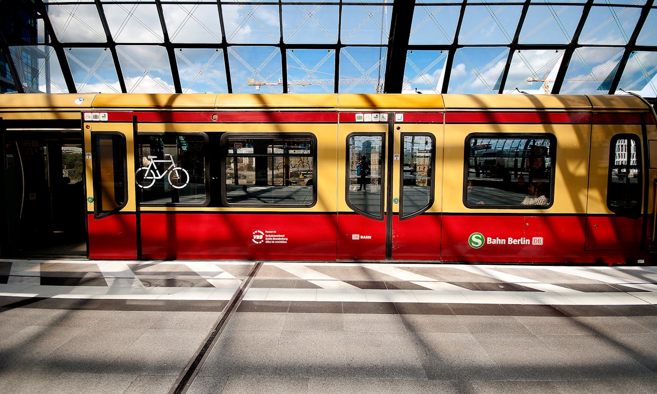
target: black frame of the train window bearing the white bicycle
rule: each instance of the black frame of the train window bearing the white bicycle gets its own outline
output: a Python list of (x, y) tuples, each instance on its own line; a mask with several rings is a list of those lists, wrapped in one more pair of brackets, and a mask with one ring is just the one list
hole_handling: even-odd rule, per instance
[(202, 203), (198, 202), (145, 202), (142, 200), (141, 188), (137, 186), (137, 179), (135, 179), (135, 198), (137, 204), (142, 207), (207, 207), (210, 206), (210, 138), (207, 133), (202, 131), (138, 131), (135, 134), (135, 174), (142, 167), (141, 155), (141, 136), (146, 135), (200, 135), (203, 137), (203, 152), (204, 157), (204, 183), (205, 183), (205, 200)]

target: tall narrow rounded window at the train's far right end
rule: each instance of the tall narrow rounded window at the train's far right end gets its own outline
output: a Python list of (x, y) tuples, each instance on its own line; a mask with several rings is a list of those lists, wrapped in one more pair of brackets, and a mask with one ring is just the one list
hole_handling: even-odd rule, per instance
[(609, 154), (607, 206), (610, 211), (637, 217), (641, 213), (641, 141), (637, 135), (612, 138)]

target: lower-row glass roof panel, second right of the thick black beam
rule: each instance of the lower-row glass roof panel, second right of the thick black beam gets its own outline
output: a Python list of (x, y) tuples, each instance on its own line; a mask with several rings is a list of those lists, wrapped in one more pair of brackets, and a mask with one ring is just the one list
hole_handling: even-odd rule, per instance
[(498, 93), (509, 48), (461, 48), (454, 55), (447, 93)]

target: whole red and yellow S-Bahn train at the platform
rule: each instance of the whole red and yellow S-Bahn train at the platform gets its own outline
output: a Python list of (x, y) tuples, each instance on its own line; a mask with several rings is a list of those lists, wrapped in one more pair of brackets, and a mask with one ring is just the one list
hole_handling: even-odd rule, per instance
[(640, 97), (4, 94), (1, 257), (651, 263)]

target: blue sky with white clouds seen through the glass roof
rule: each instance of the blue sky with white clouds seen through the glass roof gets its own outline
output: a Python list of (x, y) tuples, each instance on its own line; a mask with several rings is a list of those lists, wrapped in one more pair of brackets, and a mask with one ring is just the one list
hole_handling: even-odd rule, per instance
[[(224, 28), (233, 93), (282, 93), (280, 83), (287, 73), (290, 93), (332, 93), (335, 77), (335, 49), (303, 49), (304, 45), (338, 42), (346, 47), (339, 53), (340, 93), (376, 93), (386, 68), (386, 44), (392, 14), (392, 0), (363, 3), (351, 1), (342, 7), (342, 28), (338, 32), (340, 8), (337, 1), (307, 5), (283, 2), (283, 41), (298, 48), (286, 51), (286, 70), (281, 68), (279, 42), (281, 19), (277, 0), (223, 1)], [(508, 45), (515, 34), (522, 1), (487, 4), (468, 3), (463, 26), (455, 37), (461, 1), (416, 1), (407, 53), (403, 89), (424, 93), (442, 87), (447, 51), (422, 48), (449, 45), (455, 39), (466, 47), (457, 49), (451, 66), (447, 93), (497, 93), (499, 79), (509, 58)], [(584, 0), (566, 0), (530, 5), (520, 32), (520, 44), (564, 45), (570, 43), (581, 18)], [(566, 72), (561, 93), (601, 94), (600, 84), (614, 76), (641, 14), (645, 0), (596, 0), (583, 27), (579, 43)], [(164, 47), (164, 33), (152, 0), (118, 3), (102, 0), (110, 33), (118, 44), (118, 57), (129, 93), (173, 93), (171, 64)], [(171, 42), (183, 93), (227, 93), (227, 77), (216, 2), (176, 4), (162, 1), (164, 20)], [(78, 93), (120, 92), (118, 76), (106, 42), (101, 19), (91, 0), (50, 0), (48, 13), (60, 42), (72, 43), (66, 58)], [(43, 24), (39, 20), (41, 41)], [(75, 47), (75, 42), (95, 48)], [(189, 45), (216, 43), (205, 49)], [(259, 44), (247, 46), (244, 44)], [(648, 15), (637, 45), (657, 46), (657, 8)], [(66, 83), (49, 47), (40, 47), (39, 90), (66, 92)], [(20, 56), (12, 47), (14, 60)], [(512, 54), (505, 92), (545, 93), (549, 90), (563, 51), (526, 49)], [(43, 57), (43, 56), (42, 56)], [(48, 74), (48, 76), (47, 76)], [(637, 51), (628, 60), (620, 89), (643, 91), (655, 97), (657, 52)], [(249, 84), (257, 81), (258, 86)], [(528, 79), (534, 82), (528, 82)], [(547, 80), (547, 81), (546, 81)], [(312, 83), (311, 83), (312, 82)], [(46, 85), (49, 85), (47, 87)], [(544, 86), (545, 85), (545, 86)], [(516, 89), (517, 88), (517, 89)]]

